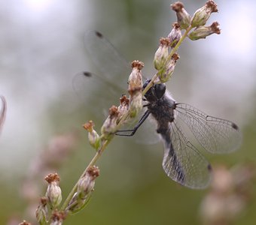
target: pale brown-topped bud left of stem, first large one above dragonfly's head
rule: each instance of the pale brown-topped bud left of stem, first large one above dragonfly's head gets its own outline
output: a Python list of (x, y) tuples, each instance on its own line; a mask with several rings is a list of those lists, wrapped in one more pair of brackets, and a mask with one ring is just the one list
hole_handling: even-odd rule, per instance
[(168, 38), (160, 38), (160, 46), (157, 49), (157, 52), (154, 54), (154, 68), (157, 69), (157, 71), (160, 71), (163, 66), (166, 64), (166, 59), (168, 58), (170, 41)]

